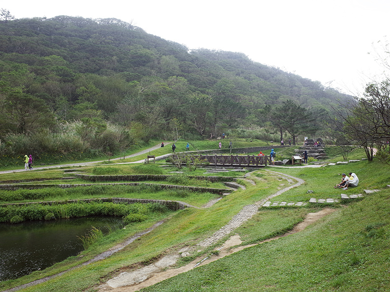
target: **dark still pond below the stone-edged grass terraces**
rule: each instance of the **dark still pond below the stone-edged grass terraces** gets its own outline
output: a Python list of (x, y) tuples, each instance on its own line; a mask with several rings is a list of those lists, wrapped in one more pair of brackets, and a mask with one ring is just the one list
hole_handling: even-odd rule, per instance
[(85, 236), (92, 226), (106, 234), (124, 224), (120, 217), (0, 223), (0, 281), (16, 279), (78, 255), (83, 250), (78, 237)]

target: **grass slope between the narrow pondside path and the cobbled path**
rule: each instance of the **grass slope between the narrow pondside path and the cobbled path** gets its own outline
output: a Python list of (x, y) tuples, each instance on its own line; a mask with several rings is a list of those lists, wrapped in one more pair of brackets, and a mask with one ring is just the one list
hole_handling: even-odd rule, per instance
[[(28, 288), (27, 291), (82, 291), (98, 283), (100, 278), (109, 277), (121, 267), (128, 267), (139, 262), (147, 263), (172, 249), (194, 245), (225, 225), (242, 206), (262, 199), (268, 194), (268, 190), (275, 191), (277, 185), (272, 186), (272, 181), (275, 180), (272, 177), (270, 177), (270, 180), (271, 186), (253, 187), (252, 190), (248, 189), (247, 191), (239, 190), (233, 196), (229, 195), (211, 208), (179, 211), (166, 223), (135, 241), (126, 250), (98, 263), (77, 269), (75, 272), (66, 273), (65, 277), (58, 277), (49, 281), (50, 283)], [(145, 224), (143, 226), (145, 227)], [(128, 226), (126, 230), (129, 228), (132, 227)], [(128, 236), (128, 233), (126, 236)], [(87, 252), (84, 252), (84, 255), (85, 253)], [(187, 261), (191, 259), (192, 257), (188, 258)], [(73, 261), (75, 264), (79, 263), (79, 257), (75, 257)], [(32, 280), (34, 277), (39, 278), (46, 274), (53, 274), (60, 270), (59, 266), (61, 264), (39, 272), (42, 275), (33, 273), (18, 280), (8, 281), (7, 286), (20, 284)], [(66, 267), (69, 266), (68, 261)], [(3, 285), (6, 285), (6, 282), (1, 283), (0, 287), (4, 287)]]

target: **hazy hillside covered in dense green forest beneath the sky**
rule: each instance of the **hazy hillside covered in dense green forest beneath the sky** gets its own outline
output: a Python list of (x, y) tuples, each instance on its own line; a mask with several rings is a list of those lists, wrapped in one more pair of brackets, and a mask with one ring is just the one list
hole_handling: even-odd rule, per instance
[[(67, 16), (0, 22), (0, 86), (3, 155), (115, 153), (174, 132), (209, 138), (254, 127), (295, 139), (351, 98), (242, 53)], [(289, 110), (301, 122), (292, 132), (278, 124)]]

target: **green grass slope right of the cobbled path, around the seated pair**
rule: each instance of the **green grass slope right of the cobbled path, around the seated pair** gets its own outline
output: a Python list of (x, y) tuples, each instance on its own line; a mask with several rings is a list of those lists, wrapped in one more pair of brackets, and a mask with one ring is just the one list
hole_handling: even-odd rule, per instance
[[(340, 192), (360, 193), (366, 188), (381, 191), (349, 203), (298, 234), (245, 249), (142, 291), (186, 292), (194, 291), (194, 287), (207, 292), (390, 291), (390, 190), (386, 188), (390, 183), (389, 165), (360, 162), (277, 170), (304, 175), (307, 184), (275, 201), (308, 201), (313, 196), (339, 198)], [(338, 174), (349, 170), (358, 174), (359, 186), (347, 191), (333, 189)], [(314, 194), (306, 194), (308, 188)], [(263, 230), (270, 228), (270, 217), (277, 224), (290, 221), (285, 216), (291, 212), (302, 218), (305, 209), (261, 211), (237, 231), (245, 243), (260, 241), (266, 237)], [(272, 215), (276, 212), (279, 219)]]

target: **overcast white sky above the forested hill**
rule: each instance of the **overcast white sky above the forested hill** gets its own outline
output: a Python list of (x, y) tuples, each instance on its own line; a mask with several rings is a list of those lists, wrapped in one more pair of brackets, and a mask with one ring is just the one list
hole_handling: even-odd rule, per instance
[[(389, 0), (3, 0), (16, 18), (118, 18), (186, 45), (241, 52), (325, 86), (359, 94), (383, 68)], [(368, 54), (370, 53), (370, 54)]]

